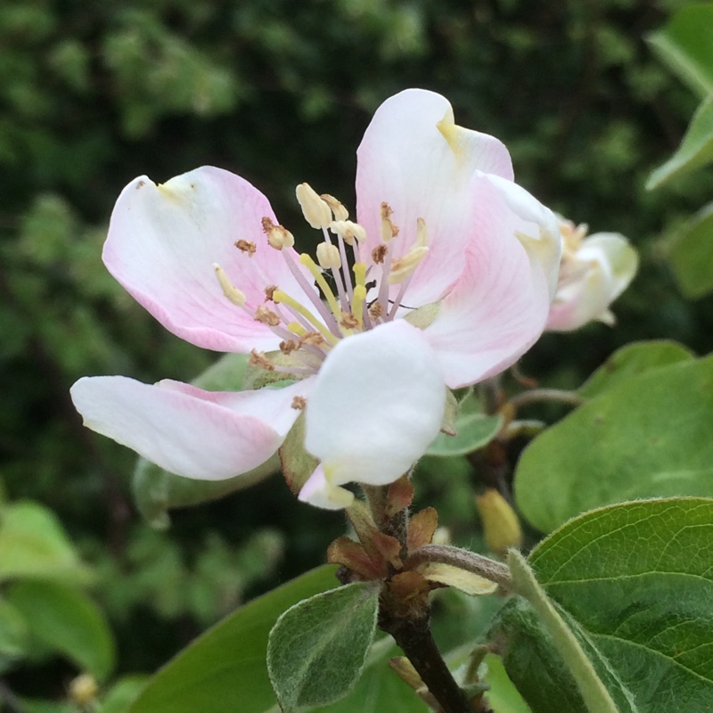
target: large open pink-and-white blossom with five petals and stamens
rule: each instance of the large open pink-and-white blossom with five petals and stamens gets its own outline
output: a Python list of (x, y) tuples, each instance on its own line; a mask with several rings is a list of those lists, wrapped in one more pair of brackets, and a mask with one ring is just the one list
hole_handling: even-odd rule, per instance
[(304, 409), (320, 463), (299, 497), (326, 508), (351, 502), (349, 482), (407, 471), (438, 433), (446, 386), (503, 371), (545, 328), (560, 235), (512, 182), (504, 145), (422, 90), (376, 111), (356, 196), (351, 222), (331, 195), (298, 187), (321, 233), (315, 261), (240, 176), (204, 167), (128, 184), (103, 250), (111, 274), (184, 340), (294, 382), (234, 393), (84, 378), (71, 393), (86, 425), (168, 471), (225, 479), (273, 455)]

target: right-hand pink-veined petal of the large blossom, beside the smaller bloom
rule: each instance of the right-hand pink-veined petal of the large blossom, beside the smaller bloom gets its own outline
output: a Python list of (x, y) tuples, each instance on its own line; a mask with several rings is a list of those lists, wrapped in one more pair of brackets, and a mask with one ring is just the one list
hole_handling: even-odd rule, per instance
[[(474, 216), (475, 237), (464, 255), (463, 275), (424, 330), (453, 389), (512, 365), (542, 333), (550, 306), (549, 264), (543, 265), (515, 237), (516, 233), (537, 234), (539, 225), (531, 222), (532, 213), (518, 215), (488, 177), (476, 180), (480, 200)], [(530, 200), (534, 201), (531, 196)], [(553, 230), (556, 222), (543, 210), (547, 229)], [(543, 239), (559, 246), (559, 230)], [(559, 260), (559, 252), (553, 250), (553, 258)], [(551, 251), (545, 247), (543, 253)]]

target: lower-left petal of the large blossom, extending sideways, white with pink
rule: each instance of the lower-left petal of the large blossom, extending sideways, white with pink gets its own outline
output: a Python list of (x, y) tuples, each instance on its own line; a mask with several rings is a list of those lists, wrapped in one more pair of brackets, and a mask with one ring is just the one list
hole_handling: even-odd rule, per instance
[(285, 389), (204, 391), (178, 381), (143, 384), (125, 376), (85, 377), (71, 388), (85, 425), (186, 478), (222, 480), (275, 453), (297, 419)]

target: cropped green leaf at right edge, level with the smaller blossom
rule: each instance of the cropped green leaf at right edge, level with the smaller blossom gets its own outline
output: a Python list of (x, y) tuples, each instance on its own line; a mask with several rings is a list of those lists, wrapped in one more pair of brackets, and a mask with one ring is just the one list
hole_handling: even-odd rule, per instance
[(696, 299), (713, 290), (713, 203), (678, 229), (669, 258), (685, 297)]

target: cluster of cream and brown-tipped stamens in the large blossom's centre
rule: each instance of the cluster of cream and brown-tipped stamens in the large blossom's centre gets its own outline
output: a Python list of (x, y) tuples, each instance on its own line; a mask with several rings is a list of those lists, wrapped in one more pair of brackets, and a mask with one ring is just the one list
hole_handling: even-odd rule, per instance
[[(214, 268), (225, 297), (282, 339), (280, 352), (263, 354), (253, 349), (250, 363), (268, 371), (307, 376), (316, 373), (341, 339), (389, 322), (397, 316), (399, 307), (406, 307), (403, 299), (408, 283), (428, 247), (426, 225), (419, 218), (414, 245), (403, 256), (394, 258), (390, 242), (399, 228), (391, 219), (389, 205), (381, 203), (381, 242), (372, 250), (371, 264), (367, 266), (362, 255), (365, 229), (348, 220), (348, 211), (340, 201), (331, 195), (318, 195), (308, 184), (299, 184), (296, 193), (307, 223), (323, 234), (316, 248), (316, 261), (302, 253), (298, 265), (294, 251), (284, 250), (294, 245), (294, 237), (283, 225), (263, 217), (262, 228), (269, 249), (283, 253), (291, 275), (307, 296), (306, 304), (266, 280), (265, 303), (253, 307), (230, 282), (225, 270), (219, 265)], [(246, 240), (235, 242), (235, 247), (249, 258), (259, 249)], [(314, 279), (318, 291), (300, 266)], [(399, 289), (396, 297), (389, 299), (389, 286), (394, 284)]]

